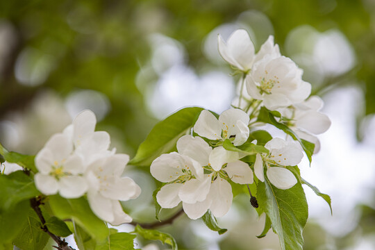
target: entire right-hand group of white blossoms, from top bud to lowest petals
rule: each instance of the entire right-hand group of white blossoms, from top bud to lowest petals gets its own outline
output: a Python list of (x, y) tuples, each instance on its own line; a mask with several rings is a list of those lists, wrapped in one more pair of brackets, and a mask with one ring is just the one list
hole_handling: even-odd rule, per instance
[[(160, 206), (174, 208), (182, 201), (183, 210), (191, 219), (203, 216), (208, 209), (216, 217), (225, 215), (233, 199), (231, 182), (251, 184), (267, 178), (282, 190), (297, 183), (290, 167), (301, 162), (303, 151), (294, 140), (273, 138), (262, 144), (264, 151), (253, 153), (243, 153), (239, 148), (245, 143), (262, 147), (249, 139), (255, 130), (251, 124), (258, 121), (261, 107), (277, 111), (277, 122), (314, 143), (315, 153), (319, 151), (319, 141), (314, 135), (324, 133), (331, 125), (328, 117), (319, 113), (322, 99), (308, 99), (310, 83), (302, 80), (302, 70), (290, 58), (281, 56), (272, 36), (258, 53), (242, 29), (226, 42), (219, 35), (218, 42), (224, 60), (242, 72), (238, 106), (225, 110), (218, 118), (202, 110), (194, 133), (181, 137), (177, 152), (156, 158), (150, 169), (154, 178), (165, 183), (156, 194)], [(226, 140), (238, 150), (224, 148)], [(255, 156), (253, 160), (244, 160), (251, 154)]]

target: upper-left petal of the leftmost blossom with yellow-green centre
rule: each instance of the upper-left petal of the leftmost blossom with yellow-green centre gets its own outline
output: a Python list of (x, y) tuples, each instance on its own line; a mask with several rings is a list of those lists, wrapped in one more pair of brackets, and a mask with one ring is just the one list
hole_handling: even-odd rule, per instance
[(66, 160), (70, 153), (72, 153), (73, 144), (67, 135), (58, 133), (52, 135), (44, 148), (51, 150), (51, 153), (53, 154), (53, 161), (56, 160), (58, 163), (60, 163), (62, 160)]

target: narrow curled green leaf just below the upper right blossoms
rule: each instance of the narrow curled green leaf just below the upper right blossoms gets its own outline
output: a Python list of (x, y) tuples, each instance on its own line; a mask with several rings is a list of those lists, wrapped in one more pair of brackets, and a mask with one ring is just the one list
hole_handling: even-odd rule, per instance
[(267, 110), (267, 108), (265, 108), (265, 107), (260, 108), (260, 112), (259, 112), (257, 121), (258, 122), (265, 122), (267, 124), (272, 124), (272, 125), (276, 126), (276, 128), (281, 129), (282, 131), (284, 131), (285, 133), (290, 135), (294, 140), (297, 140), (301, 144), (301, 146), (303, 148), (303, 151), (305, 151), (306, 156), (308, 157), (308, 160), (311, 163), (311, 160), (312, 160), (311, 156), (314, 153), (314, 147), (315, 147), (315, 145), (313, 143), (308, 142), (306, 140), (299, 139), (298, 135), (296, 133), (294, 133), (294, 131), (292, 131), (292, 129), (290, 129), (288, 126), (286, 126), (285, 124), (283, 124), (281, 122), (277, 122), (274, 115), (272, 115), (272, 113), (269, 110)]

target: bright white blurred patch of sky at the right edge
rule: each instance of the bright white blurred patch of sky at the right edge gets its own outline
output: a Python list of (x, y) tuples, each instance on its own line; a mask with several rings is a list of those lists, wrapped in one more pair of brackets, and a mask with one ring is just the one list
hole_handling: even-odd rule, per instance
[(313, 156), (311, 168), (301, 164), (301, 176), (332, 199), (333, 216), (325, 201), (306, 189), (310, 218), (334, 235), (349, 233), (358, 222), (358, 203), (371, 201), (375, 156), (372, 149), (356, 140), (356, 114), (363, 100), (358, 88), (340, 88), (325, 98), (322, 110), (332, 121), (319, 135), (321, 151)]

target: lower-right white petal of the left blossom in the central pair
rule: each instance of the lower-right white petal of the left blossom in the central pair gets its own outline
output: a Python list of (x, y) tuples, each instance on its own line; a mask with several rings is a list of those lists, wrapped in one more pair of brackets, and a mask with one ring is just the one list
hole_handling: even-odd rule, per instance
[(183, 186), (178, 192), (178, 197), (185, 203), (196, 203), (206, 199), (208, 192), (210, 192), (211, 177), (205, 176), (203, 181), (191, 179), (183, 183)]

